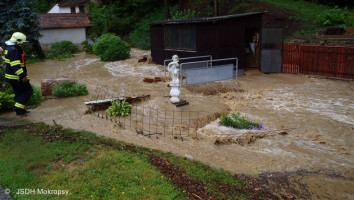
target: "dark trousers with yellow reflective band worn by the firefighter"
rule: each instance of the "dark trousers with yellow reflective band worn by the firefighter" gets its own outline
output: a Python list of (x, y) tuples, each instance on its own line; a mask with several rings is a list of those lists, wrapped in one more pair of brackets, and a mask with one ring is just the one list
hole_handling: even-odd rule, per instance
[(33, 89), (29, 81), (11, 81), (12, 89), (15, 93), (15, 106), (14, 110), (17, 115), (23, 115), (26, 113), (26, 107), (28, 100), (31, 98)]

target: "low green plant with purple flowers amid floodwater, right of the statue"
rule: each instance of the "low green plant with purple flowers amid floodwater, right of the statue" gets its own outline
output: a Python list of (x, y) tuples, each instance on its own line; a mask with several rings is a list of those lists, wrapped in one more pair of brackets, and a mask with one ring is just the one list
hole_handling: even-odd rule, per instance
[(262, 125), (249, 121), (246, 117), (241, 117), (240, 112), (234, 112), (231, 116), (223, 113), (220, 117), (221, 124), (227, 127), (238, 129), (261, 129)]

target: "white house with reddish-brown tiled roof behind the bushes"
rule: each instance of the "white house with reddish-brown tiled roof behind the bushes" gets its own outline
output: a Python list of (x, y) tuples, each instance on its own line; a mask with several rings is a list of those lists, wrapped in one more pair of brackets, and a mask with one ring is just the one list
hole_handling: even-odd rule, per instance
[(50, 44), (68, 40), (81, 44), (86, 40), (86, 29), (92, 27), (84, 5), (87, 0), (62, 0), (49, 13), (42, 13), (39, 42), (47, 49)]

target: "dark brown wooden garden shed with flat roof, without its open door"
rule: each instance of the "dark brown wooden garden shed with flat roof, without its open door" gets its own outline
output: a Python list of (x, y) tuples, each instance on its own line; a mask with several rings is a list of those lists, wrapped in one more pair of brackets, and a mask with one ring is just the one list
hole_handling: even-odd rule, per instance
[(249, 55), (258, 65), (263, 12), (171, 20), (150, 24), (152, 61), (163, 64), (174, 54), (181, 57), (211, 55), (213, 59), (237, 57), (247, 67)]

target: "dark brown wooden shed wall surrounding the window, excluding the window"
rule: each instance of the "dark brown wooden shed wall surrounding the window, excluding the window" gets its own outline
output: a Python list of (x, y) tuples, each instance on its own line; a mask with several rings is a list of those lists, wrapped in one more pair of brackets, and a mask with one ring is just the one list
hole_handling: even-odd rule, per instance
[[(184, 24), (181, 24), (184, 25)], [(212, 55), (213, 59), (238, 57), (239, 67), (245, 67), (245, 41), (247, 29), (261, 30), (262, 15), (252, 15), (215, 22), (195, 23), (196, 51), (164, 49), (164, 27), (171, 24), (151, 26), (152, 60), (163, 64), (174, 54), (179, 57)]]

